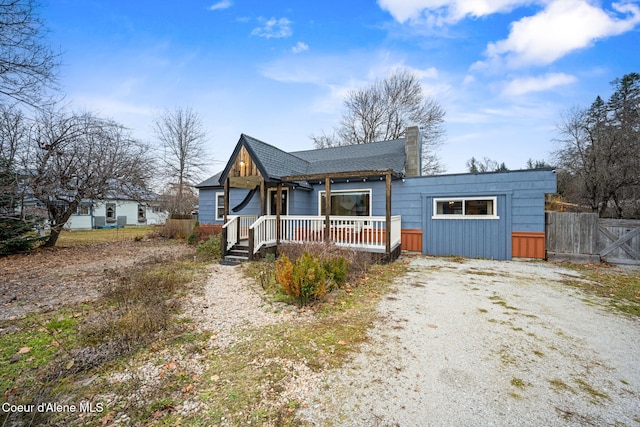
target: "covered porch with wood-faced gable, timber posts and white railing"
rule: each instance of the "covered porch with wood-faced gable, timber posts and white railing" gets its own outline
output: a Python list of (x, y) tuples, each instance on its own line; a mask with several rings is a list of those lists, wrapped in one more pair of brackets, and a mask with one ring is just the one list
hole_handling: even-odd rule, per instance
[[(396, 145), (394, 150), (403, 154), (404, 145)], [(219, 178), (224, 197), (222, 251), (225, 256), (231, 251), (241, 251), (243, 257), (254, 259), (281, 243), (303, 242), (332, 242), (383, 254), (388, 259), (393, 258), (394, 251), (399, 252), (401, 218), (391, 215), (391, 187), (392, 180), (402, 178), (404, 163), (397, 162), (396, 168), (378, 168), (376, 159), (380, 156), (376, 155), (362, 160), (353, 170), (357, 158), (342, 164), (344, 153), (340, 158), (336, 157), (337, 153), (326, 159), (322, 156), (326, 157), (329, 152), (319, 153), (311, 152), (313, 156), (305, 160), (304, 157), (311, 154), (294, 156), (242, 135)], [(393, 153), (393, 158), (402, 157)], [(320, 156), (322, 161), (314, 156)], [(346, 186), (355, 181), (360, 183), (356, 191), (360, 198), (354, 194), (345, 196)], [(373, 214), (372, 181), (376, 191), (381, 190), (377, 194), (384, 194), (384, 201), (379, 198), (375, 207), (377, 216)], [(333, 187), (337, 188), (332, 196)], [(240, 190), (240, 194), (246, 192), (242, 200), (234, 200), (233, 207), (232, 189)], [(293, 190), (297, 190), (298, 196), (313, 194), (317, 199), (298, 201), (296, 214), (291, 215), (287, 203)], [(339, 194), (342, 198), (338, 200)], [(337, 198), (335, 202), (333, 198)], [(312, 212), (317, 215), (307, 215)]]

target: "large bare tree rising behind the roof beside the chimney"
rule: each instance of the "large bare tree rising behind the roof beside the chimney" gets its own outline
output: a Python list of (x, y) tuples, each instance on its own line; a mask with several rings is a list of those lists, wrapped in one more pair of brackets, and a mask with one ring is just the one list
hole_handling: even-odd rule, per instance
[(436, 150), (445, 135), (445, 111), (433, 98), (425, 95), (415, 74), (399, 70), (384, 80), (349, 92), (344, 100), (345, 112), (332, 135), (312, 135), (317, 148), (366, 144), (404, 136), (408, 126), (420, 127), (422, 136), (422, 172), (444, 170)]

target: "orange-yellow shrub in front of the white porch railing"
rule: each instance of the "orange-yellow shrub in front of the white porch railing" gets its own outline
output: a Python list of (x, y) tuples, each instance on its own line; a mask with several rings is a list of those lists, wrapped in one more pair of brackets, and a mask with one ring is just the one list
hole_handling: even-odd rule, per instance
[(282, 255), (276, 261), (276, 275), (285, 293), (298, 300), (301, 306), (327, 293), (327, 274), (322, 262), (308, 252), (303, 253), (295, 264)]

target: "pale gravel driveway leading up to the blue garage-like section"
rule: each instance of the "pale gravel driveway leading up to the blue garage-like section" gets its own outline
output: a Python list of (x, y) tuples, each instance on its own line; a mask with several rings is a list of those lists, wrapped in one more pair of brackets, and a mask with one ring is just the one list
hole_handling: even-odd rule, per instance
[(542, 262), (416, 257), (312, 425), (640, 425), (640, 321)]

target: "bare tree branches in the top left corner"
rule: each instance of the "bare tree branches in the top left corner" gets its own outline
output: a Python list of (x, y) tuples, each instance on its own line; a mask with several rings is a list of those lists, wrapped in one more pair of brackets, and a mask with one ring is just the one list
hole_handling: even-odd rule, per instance
[(44, 42), (34, 0), (0, 0), (0, 95), (38, 107), (55, 87), (59, 55)]

